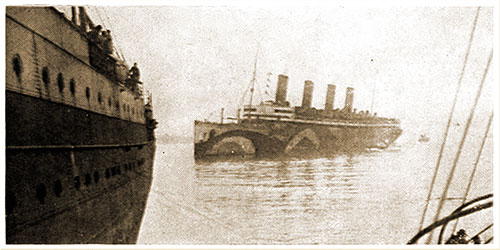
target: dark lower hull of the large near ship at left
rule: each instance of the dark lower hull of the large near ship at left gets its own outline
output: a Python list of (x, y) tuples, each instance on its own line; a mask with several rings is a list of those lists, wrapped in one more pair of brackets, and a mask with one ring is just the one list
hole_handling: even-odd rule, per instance
[(6, 104), (7, 243), (134, 243), (155, 150), (145, 127), (10, 91)]

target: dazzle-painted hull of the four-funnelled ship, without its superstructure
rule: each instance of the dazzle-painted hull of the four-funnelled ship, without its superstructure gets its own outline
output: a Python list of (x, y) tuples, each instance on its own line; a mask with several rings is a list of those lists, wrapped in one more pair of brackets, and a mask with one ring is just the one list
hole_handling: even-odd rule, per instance
[(397, 126), (315, 124), (299, 121), (251, 120), (239, 124), (195, 121), (195, 158), (255, 155), (316, 156), (384, 149), (402, 130)]

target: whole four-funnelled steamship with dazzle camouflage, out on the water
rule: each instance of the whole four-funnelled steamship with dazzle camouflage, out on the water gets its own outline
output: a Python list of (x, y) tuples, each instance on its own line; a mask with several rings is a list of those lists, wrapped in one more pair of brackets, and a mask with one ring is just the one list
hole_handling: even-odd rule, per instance
[[(254, 77), (255, 81), (255, 77)], [(253, 82), (254, 82), (253, 81)], [(254, 84), (251, 92), (253, 94)], [(387, 148), (402, 133), (394, 118), (353, 109), (354, 89), (347, 88), (345, 106), (334, 109), (335, 85), (328, 85), (324, 109), (311, 107), (314, 83), (305, 81), (302, 105), (286, 100), (288, 77), (278, 76), (274, 101), (244, 105), (233, 122), (195, 121), (195, 158), (213, 155), (328, 154)]]

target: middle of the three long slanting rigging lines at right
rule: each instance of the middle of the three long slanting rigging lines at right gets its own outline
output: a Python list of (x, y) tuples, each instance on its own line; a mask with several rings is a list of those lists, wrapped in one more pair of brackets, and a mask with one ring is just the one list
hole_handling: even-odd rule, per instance
[[(481, 84), (479, 85), (479, 89), (477, 91), (476, 98), (474, 100), (474, 105), (472, 106), (471, 112), (469, 114), (469, 118), (467, 119), (467, 123), (465, 124), (465, 130), (464, 130), (464, 133), (462, 135), (462, 139), (460, 140), (460, 144), (458, 145), (458, 151), (457, 151), (457, 154), (455, 156), (455, 159), (453, 160), (453, 165), (451, 167), (450, 173), (448, 174), (448, 179), (446, 180), (446, 185), (444, 187), (443, 193), (441, 194), (441, 199), (439, 200), (437, 212), (434, 216), (434, 221), (436, 221), (439, 218), (439, 215), (441, 213), (441, 209), (443, 208), (443, 205), (445, 202), (446, 195), (448, 194), (448, 189), (450, 188), (451, 180), (453, 179), (453, 175), (455, 174), (455, 169), (457, 167), (457, 163), (458, 163), (458, 160), (460, 158), (460, 154), (462, 153), (462, 148), (465, 144), (465, 139), (467, 138), (470, 124), (472, 122), (472, 118), (474, 117), (474, 112), (476, 110), (477, 103), (479, 102), (479, 97), (481, 96), (481, 92), (483, 90), (486, 75), (488, 75), (488, 70), (490, 68), (492, 58), (493, 58), (493, 49), (490, 51), (490, 55), (488, 57), (488, 63), (486, 64), (486, 69), (484, 70), (483, 78), (481, 79)], [(427, 242), (430, 243), (431, 239), (432, 239), (432, 233), (429, 234), (429, 237), (427, 238)]]

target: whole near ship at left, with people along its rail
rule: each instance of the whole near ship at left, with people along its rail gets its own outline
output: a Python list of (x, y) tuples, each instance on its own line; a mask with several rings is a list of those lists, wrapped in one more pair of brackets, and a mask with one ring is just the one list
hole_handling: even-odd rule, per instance
[[(151, 96), (80, 7), (6, 8), (7, 244), (135, 243), (155, 152)], [(146, 100), (145, 100), (146, 99)]]

